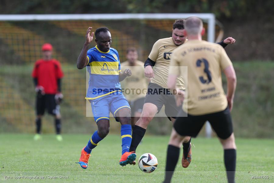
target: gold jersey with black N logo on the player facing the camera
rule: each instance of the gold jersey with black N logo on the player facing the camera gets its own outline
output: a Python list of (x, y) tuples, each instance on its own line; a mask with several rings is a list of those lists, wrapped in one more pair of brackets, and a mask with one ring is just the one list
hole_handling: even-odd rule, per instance
[[(154, 43), (149, 54), (149, 59), (156, 62), (153, 67), (154, 78), (151, 80), (152, 83), (158, 84), (163, 88), (167, 88), (170, 59), (172, 52), (177, 47), (178, 46), (174, 44), (172, 38), (159, 39)], [(184, 82), (182, 78), (179, 77), (177, 79), (176, 86), (179, 89), (184, 89)]]

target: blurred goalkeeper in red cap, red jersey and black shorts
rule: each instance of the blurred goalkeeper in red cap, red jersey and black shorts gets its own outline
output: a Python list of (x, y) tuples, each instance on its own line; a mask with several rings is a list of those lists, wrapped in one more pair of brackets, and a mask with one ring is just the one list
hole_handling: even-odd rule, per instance
[(36, 135), (34, 140), (41, 138), (41, 120), (45, 109), (55, 117), (56, 138), (62, 141), (61, 136), (61, 114), (60, 102), (63, 99), (61, 94), (61, 78), (63, 72), (58, 60), (51, 58), (52, 45), (45, 43), (42, 46), (43, 59), (37, 60), (32, 72), (35, 84), (36, 96)]

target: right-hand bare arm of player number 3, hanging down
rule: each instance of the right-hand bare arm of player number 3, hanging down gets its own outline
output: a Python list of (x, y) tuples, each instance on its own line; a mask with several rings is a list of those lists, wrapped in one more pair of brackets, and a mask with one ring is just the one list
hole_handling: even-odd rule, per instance
[(227, 102), (230, 111), (233, 107), (234, 93), (236, 90), (237, 78), (233, 66), (228, 66), (224, 70), (224, 74), (227, 77)]

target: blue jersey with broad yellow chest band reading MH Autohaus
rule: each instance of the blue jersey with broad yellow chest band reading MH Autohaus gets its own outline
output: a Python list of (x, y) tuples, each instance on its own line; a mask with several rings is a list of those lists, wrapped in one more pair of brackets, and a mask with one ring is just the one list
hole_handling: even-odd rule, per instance
[(87, 52), (89, 62), (86, 66), (90, 74), (86, 99), (97, 99), (109, 94), (121, 94), (119, 54), (114, 48), (102, 52), (97, 45)]

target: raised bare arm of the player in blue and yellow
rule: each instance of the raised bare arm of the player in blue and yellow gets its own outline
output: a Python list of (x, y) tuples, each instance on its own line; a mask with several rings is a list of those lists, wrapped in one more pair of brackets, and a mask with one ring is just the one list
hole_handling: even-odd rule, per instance
[(78, 69), (83, 69), (89, 61), (89, 59), (86, 57), (86, 53), (89, 49), (90, 42), (93, 40), (94, 32), (92, 32), (90, 34), (91, 29), (92, 29), (92, 27), (89, 27), (86, 31), (86, 42), (85, 42), (84, 47), (77, 59), (77, 68)]

